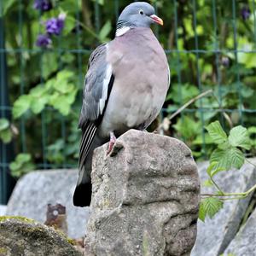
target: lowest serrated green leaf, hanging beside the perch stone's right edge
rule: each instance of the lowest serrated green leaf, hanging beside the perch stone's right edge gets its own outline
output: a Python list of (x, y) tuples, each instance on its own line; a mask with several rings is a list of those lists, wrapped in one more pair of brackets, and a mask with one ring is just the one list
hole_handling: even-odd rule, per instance
[(217, 197), (205, 198), (200, 203), (199, 218), (204, 222), (207, 216), (212, 218), (222, 207), (223, 201), (220, 201)]

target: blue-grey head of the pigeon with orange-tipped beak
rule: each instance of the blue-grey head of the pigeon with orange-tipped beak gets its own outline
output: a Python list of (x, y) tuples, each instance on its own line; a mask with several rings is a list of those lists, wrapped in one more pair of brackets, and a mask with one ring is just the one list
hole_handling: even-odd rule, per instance
[(136, 2), (127, 5), (119, 15), (117, 29), (122, 26), (149, 27), (153, 23), (163, 25), (163, 20), (154, 15), (154, 7), (146, 2)]

